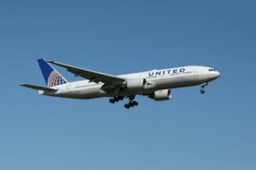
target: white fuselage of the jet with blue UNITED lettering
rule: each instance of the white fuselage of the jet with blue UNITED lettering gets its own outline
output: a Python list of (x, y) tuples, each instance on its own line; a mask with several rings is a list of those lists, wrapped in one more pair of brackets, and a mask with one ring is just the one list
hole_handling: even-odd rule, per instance
[[(183, 88), (201, 85), (211, 82), (219, 76), (219, 72), (204, 66), (184, 66), (172, 69), (144, 71), (118, 77), (130, 79), (144, 78), (148, 82), (148, 88), (131, 91), (128, 88), (120, 88), (119, 95), (148, 95), (160, 89)], [(106, 93), (102, 90), (102, 82), (89, 82), (88, 80), (68, 82), (55, 86), (56, 92), (40, 91), (38, 94), (73, 99), (94, 99), (100, 97), (112, 97), (115, 94)]]

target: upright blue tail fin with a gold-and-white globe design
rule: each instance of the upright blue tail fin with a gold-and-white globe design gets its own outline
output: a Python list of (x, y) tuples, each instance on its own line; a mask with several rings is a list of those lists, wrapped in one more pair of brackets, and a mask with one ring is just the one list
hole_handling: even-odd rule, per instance
[(38, 59), (38, 64), (44, 75), (44, 80), (48, 88), (67, 83), (67, 80), (51, 65), (49, 65), (45, 59)]

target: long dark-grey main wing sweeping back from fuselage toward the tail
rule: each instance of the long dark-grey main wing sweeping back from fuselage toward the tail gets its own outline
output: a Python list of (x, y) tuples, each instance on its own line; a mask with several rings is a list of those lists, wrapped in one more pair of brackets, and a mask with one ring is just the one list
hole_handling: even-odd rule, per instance
[(66, 68), (67, 71), (72, 72), (76, 77), (78, 76), (84, 77), (86, 79), (89, 79), (90, 82), (96, 82), (96, 83), (103, 82), (106, 84), (120, 84), (125, 82), (125, 78), (115, 77), (115, 76), (104, 74), (97, 71), (85, 70), (79, 67), (66, 65), (66, 64), (55, 62), (55, 61), (48, 61), (48, 62), (54, 65), (59, 65), (63, 68)]

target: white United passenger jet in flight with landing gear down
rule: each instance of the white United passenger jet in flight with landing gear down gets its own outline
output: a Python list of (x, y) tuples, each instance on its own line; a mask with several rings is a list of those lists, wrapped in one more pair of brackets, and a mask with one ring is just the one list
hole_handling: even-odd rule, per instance
[[(208, 82), (212, 82), (220, 76), (218, 71), (206, 66), (183, 66), (113, 76), (45, 59), (38, 59), (38, 64), (47, 88), (32, 84), (20, 84), (20, 86), (36, 89), (39, 95), (60, 98), (108, 97), (112, 104), (128, 98), (129, 102), (125, 104), (126, 109), (138, 105), (135, 100), (137, 95), (148, 96), (155, 101), (171, 99), (171, 89), (173, 88), (201, 86), (200, 93), (205, 94)], [(73, 73), (75, 77), (83, 77), (87, 80), (67, 82), (67, 79), (49, 64), (61, 66)]]

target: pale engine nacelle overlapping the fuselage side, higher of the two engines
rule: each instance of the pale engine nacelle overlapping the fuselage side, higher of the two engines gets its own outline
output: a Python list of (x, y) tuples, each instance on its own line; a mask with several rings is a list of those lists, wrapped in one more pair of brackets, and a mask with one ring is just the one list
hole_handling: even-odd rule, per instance
[(147, 81), (145, 78), (129, 79), (126, 86), (130, 91), (137, 91), (147, 88)]

